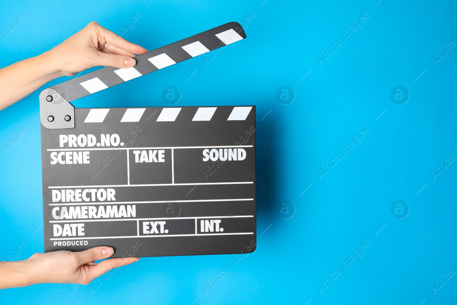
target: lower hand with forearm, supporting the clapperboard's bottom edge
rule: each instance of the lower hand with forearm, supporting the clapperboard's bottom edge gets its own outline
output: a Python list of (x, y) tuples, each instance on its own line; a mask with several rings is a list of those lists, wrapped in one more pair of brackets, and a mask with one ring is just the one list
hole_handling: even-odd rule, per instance
[(81, 252), (54, 251), (35, 253), (19, 262), (7, 262), (0, 270), (0, 289), (23, 287), (39, 283), (89, 284), (94, 278), (118, 268), (138, 262), (138, 257), (108, 258), (113, 248), (100, 246)]

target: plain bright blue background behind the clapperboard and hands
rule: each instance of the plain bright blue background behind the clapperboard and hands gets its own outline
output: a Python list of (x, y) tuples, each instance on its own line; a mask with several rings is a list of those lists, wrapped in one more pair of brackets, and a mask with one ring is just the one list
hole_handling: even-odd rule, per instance
[[(457, 43), (457, 4), (263, 1), (0, 4), (2, 31), (22, 11), (27, 13), (20, 27), (0, 42), (2, 66), (41, 54), (90, 21), (117, 32), (135, 12), (141, 17), (122, 37), (149, 50), (229, 21), (244, 22), (248, 38), (223, 48), (213, 58), (200, 55), (74, 105), (164, 107), (168, 106), (162, 100), (166, 86), (179, 88), (181, 100), (176, 106), (180, 107), (255, 104), (258, 152), (257, 250), (206, 293), (203, 286), (227, 269), (225, 264), (235, 255), (145, 257), (117, 269), (99, 281), (97, 289), (94, 283), (38, 284), (1, 290), (1, 302), (455, 302), (457, 278), (453, 276), (435, 294), (431, 286), (450, 269), (457, 271), (457, 165), (452, 162), (436, 177), (431, 172), (450, 155), (457, 157), (453, 89), (457, 49), (451, 48), (435, 64), (431, 57), (451, 40)], [(255, 17), (246, 22), (251, 12)], [(362, 27), (343, 42), (338, 35), (365, 12), (369, 17)], [(316, 58), (335, 40), (340, 40), (340, 47), (319, 65)], [(46, 87), (67, 79), (54, 80)], [(283, 96), (286, 101), (295, 96), (288, 105), (276, 98), (282, 86), (293, 90), (289, 90), (289, 100)], [(393, 102), (390, 93), (395, 86), (407, 88), (408, 102)], [(17, 260), (43, 251), (37, 117), (38, 93), (43, 88), (0, 112), (1, 145), (22, 126), (27, 128), (20, 142), (0, 157), (3, 260), (21, 241), (27, 246)], [(343, 156), (339, 149), (365, 126), (370, 131), (363, 141)], [(317, 172), (335, 155), (341, 160), (319, 179)], [(283, 200), (291, 203), (283, 206)], [(409, 206), (404, 219), (391, 213), (396, 200)], [(361, 252), (363, 256), (343, 270), (339, 264), (365, 241), (369, 246)], [(335, 269), (341, 274), (319, 289)]]

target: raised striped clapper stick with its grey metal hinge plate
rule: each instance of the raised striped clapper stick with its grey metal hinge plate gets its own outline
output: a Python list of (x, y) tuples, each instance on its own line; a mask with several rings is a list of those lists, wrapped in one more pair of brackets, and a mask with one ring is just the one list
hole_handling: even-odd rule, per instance
[(74, 128), (74, 106), (71, 101), (244, 38), (246, 34), (243, 27), (237, 22), (229, 22), (138, 55), (134, 57), (137, 64), (132, 68), (105, 67), (44, 89), (39, 96), (41, 123), (49, 129)]

